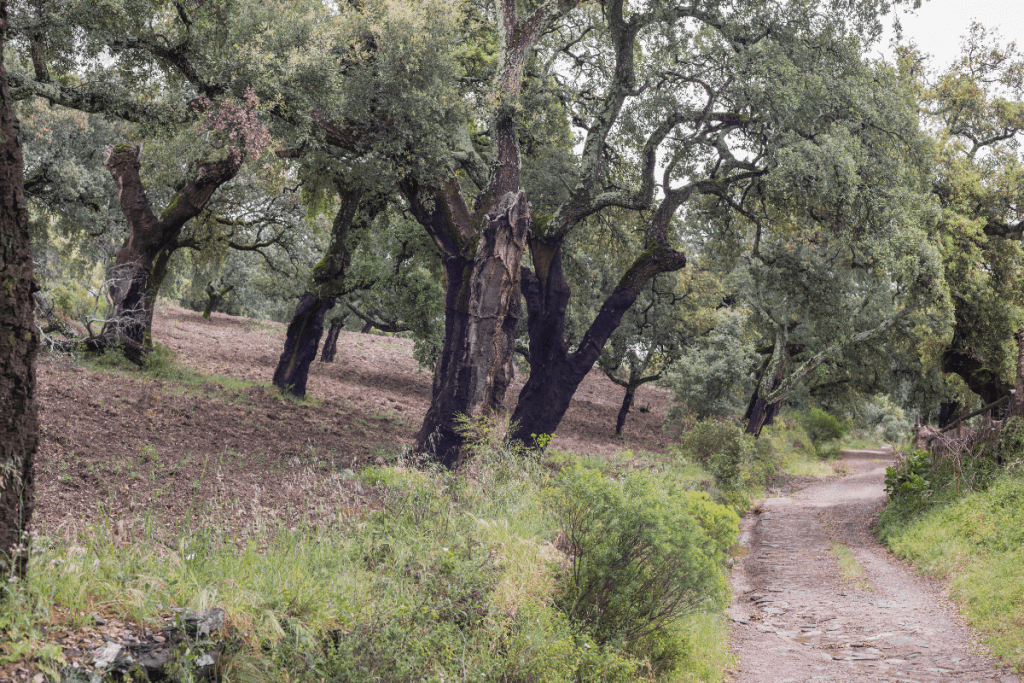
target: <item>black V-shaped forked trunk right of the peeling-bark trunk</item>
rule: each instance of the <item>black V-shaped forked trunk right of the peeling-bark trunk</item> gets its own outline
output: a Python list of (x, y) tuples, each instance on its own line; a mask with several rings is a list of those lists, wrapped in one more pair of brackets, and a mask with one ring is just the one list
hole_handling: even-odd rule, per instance
[(686, 256), (664, 245), (646, 250), (626, 272), (618, 287), (601, 305), (597, 317), (575, 351), (565, 343), (565, 311), (571, 292), (562, 271), (561, 241), (529, 241), (536, 272), (523, 268), (522, 293), (526, 299), (529, 331), (529, 379), (519, 393), (512, 415), (515, 429), (510, 440), (539, 447), (565, 416), (577, 387), (597, 362), (601, 349), (637, 300), (651, 278), (678, 270)]

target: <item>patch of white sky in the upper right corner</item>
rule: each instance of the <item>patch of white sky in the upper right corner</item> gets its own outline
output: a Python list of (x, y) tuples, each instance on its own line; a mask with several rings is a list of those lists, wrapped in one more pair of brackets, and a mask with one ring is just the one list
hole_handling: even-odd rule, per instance
[[(924, 52), (933, 55), (931, 66), (941, 69), (959, 52), (961, 39), (972, 20), (980, 22), (986, 29), (996, 29), (1004, 44), (1016, 41), (1024, 50), (1024, 1), (1022, 0), (926, 0), (921, 9), (899, 10), (903, 25), (903, 40), (916, 43)], [(892, 24), (892, 15), (883, 19)], [(871, 50), (871, 55), (892, 57), (887, 30), (882, 44)]]

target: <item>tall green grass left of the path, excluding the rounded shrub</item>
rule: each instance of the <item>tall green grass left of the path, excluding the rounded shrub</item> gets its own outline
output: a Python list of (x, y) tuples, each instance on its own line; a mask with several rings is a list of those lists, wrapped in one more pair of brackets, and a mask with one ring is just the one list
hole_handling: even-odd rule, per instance
[(720, 615), (677, 622), (676, 666), (650, 678), (554, 606), (567, 565), (545, 503), (549, 467), (502, 452), (459, 475), (389, 460), (356, 474), (369, 507), (315, 528), (261, 519), (240, 541), (209, 520), (170, 537), (138, 523), (124, 543), (102, 523), (40, 539), (28, 585), (0, 588), (0, 661), (57, 671), (66, 663), (45, 634), (93, 614), (155, 625), (172, 608), (221, 607), (225, 681), (723, 679)]

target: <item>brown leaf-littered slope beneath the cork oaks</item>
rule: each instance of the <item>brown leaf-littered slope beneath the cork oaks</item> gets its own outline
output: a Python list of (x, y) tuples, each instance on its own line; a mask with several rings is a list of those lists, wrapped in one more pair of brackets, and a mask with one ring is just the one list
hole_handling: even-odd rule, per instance
[[(411, 443), (431, 375), (413, 360), (410, 340), (343, 332), (337, 360), (311, 369), (312, 399), (294, 402), (267, 384), (284, 333), (280, 324), (221, 313), (206, 321), (161, 306), (155, 339), (179, 364), (225, 378), (193, 385), (42, 357), (35, 527), (69, 538), (93, 521), (129, 537), (180, 523), (244, 529), (267, 516), (315, 522), (365, 505), (346, 470)], [(664, 449), (667, 392), (642, 387), (636, 407), (647, 412), (635, 408), (618, 438), (622, 397), (591, 373), (552, 447), (595, 455)]]

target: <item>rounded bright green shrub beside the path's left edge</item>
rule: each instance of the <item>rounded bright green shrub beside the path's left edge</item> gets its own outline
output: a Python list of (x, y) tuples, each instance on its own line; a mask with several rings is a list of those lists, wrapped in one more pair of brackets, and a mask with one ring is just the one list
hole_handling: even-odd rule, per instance
[(579, 467), (561, 472), (548, 500), (571, 554), (556, 604), (597, 644), (671, 667), (683, 652), (666, 641), (672, 624), (723, 604), (735, 513), (647, 473), (615, 481)]

